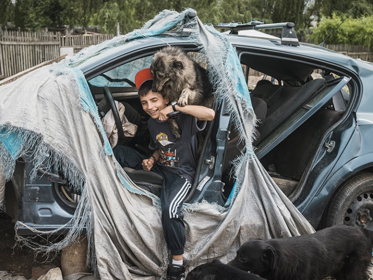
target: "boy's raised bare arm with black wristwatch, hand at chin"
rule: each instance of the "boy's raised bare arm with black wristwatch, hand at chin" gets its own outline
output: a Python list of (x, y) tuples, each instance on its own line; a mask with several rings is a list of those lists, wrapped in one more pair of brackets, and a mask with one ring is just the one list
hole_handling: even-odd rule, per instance
[[(199, 105), (185, 105), (179, 106), (175, 105), (176, 111), (186, 113), (188, 115), (195, 116), (198, 120), (212, 120), (215, 117), (215, 111), (213, 109), (199, 106)], [(163, 110), (161, 110), (161, 115), (159, 120), (163, 121), (168, 119), (167, 114), (173, 112), (173, 108), (171, 105), (167, 106)]]

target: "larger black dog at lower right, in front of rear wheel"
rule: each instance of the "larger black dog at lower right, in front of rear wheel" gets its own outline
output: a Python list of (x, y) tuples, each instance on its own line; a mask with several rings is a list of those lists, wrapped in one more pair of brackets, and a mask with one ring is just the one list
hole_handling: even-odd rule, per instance
[[(365, 280), (373, 231), (334, 226), (282, 239), (251, 239), (229, 263), (268, 280)], [(369, 278), (368, 278), (369, 279)]]

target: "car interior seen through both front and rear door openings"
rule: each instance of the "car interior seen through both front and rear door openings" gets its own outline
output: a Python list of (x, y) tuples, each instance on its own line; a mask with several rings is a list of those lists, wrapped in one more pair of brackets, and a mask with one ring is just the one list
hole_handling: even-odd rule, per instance
[[(189, 55), (203, 64), (198, 52)], [(342, 118), (352, 87), (347, 84), (342, 88), (342, 76), (315, 64), (245, 51), (239, 57), (258, 120), (252, 143), (255, 153), (282, 191), (291, 196), (325, 133)], [(122, 135), (118, 145), (144, 155), (152, 153), (148, 148), (149, 116), (142, 110), (134, 77), (140, 69), (150, 66), (151, 59), (152, 55), (138, 58), (88, 81), (101, 118), (116, 100), (124, 105), (127, 120), (138, 126), (134, 137)], [(214, 109), (216, 118), (205, 129), (205, 141), (199, 142), (195, 182), (186, 199), (189, 203), (205, 199), (225, 205), (235, 183), (233, 161), (245, 150), (227, 104), (219, 101)], [(124, 170), (135, 184), (159, 196), (159, 175)]]

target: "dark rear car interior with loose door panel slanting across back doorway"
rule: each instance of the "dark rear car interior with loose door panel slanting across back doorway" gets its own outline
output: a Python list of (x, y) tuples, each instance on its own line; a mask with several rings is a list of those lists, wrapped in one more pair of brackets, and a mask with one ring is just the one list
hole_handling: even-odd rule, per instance
[[(255, 153), (272, 179), (290, 197), (308, 171), (326, 132), (341, 120), (348, 106), (352, 86), (346, 84), (339, 89), (343, 82), (337, 74), (316, 65), (281, 57), (242, 53), (241, 64), (248, 84), (250, 72), (256, 72), (262, 78), (249, 88), (258, 118), (252, 143), (256, 147)], [(323, 102), (323, 96), (328, 95), (332, 95), (331, 98), (324, 98)], [(311, 109), (317, 110), (309, 114), (307, 111)], [(309, 117), (302, 119), (305, 115)], [(293, 128), (293, 131), (284, 133), (289, 128)], [(278, 141), (281, 133), (283, 139)], [(231, 139), (228, 150), (237, 145), (237, 139)], [(273, 147), (263, 153), (265, 147), (270, 145)], [(240, 148), (243, 148), (243, 144), (235, 152)], [(223, 171), (223, 180), (230, 187), (234, 180), (227, 174), (231, 173), (232, 166), (225, 163)]]

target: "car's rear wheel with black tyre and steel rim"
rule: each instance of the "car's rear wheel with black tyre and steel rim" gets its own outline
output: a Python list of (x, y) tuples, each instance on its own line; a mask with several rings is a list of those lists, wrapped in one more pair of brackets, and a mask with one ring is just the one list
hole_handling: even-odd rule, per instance
[(373, 174), (359, 173), (345, 181), (331, 199), (324, 227), (349, 225), (373, 230)]

